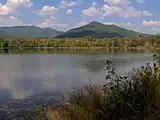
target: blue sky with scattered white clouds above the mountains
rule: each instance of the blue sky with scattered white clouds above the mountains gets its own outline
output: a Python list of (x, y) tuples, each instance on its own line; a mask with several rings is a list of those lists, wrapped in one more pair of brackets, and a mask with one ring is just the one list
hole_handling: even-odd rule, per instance
[(91, 21), (160, 33), (160, 0), (0, 0), (0, 27), (67, 31)]

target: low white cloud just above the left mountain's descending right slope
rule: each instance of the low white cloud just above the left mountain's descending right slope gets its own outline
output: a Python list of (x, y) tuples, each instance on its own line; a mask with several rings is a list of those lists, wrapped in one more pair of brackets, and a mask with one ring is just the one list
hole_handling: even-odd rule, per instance
[(56, 18), (51, 16), (41, 21), (40, 24), (37, 26), (42, 28), (50, 27), (54, 29), (66, 29), (68, 27), (68, 24), (59, 24), (56, 22)]

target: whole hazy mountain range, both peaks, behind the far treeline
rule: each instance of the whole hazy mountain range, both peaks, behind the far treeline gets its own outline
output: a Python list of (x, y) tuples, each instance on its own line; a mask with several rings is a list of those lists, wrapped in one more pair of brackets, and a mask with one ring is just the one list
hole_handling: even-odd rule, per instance
[(52, 28), (39, 28), (36, 26), (0, 27), (0, 36), (12, 36), (14, 38), (79, 38), (79, 37), (130, 37), (146, 35), (133, 30), (128, 30), (116, 25), (105, 25), (99, 22), (91, 22), (87, 25), (71, 29), (67, 32), (57, 31)]

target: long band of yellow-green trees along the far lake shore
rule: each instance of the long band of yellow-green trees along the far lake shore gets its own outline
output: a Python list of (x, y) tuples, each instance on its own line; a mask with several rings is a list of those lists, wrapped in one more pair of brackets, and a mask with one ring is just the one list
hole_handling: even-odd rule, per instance
[(159, 50), (160, 35), (123, 38), (1, 38), (1, 50)]

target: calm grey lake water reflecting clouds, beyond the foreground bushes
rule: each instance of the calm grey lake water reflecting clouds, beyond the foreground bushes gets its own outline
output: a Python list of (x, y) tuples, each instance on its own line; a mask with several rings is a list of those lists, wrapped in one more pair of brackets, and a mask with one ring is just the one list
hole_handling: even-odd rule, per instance
[(15, 102), (12, 100), (24, 100), (36, 95), (45, 95), (47, 98), (49, 95), (53, 96), (49, 93), (67, 91), (71, 86), (88, 83), (89, 79), (93, 83), (101, 84), (104, 83), (106, 60), (113, 62), (118, 68), (118, 73), (127, 74), (132, 68), (139, 68), (146, 62), (151, 62), (152, 55), (149, 53), (1, 54), (0, 102), (1, 104), (7, 102), (9, 105)]

